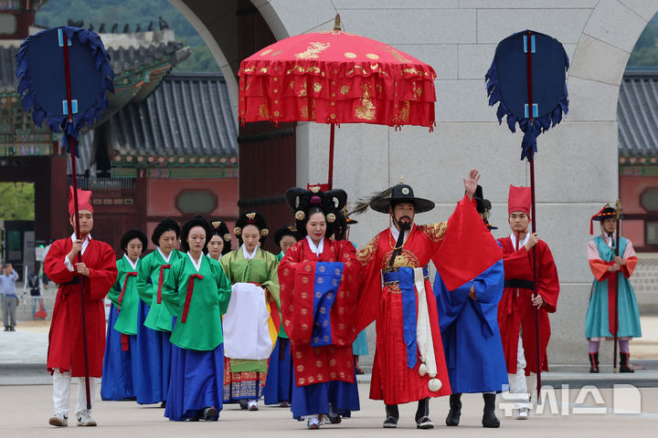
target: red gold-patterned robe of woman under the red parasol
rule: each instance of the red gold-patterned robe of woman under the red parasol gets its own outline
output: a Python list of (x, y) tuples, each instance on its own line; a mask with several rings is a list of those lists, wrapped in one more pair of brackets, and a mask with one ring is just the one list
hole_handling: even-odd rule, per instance
[[(302, 327), (299, 330), (292, 329), (296, 321), (309, 320), (309, 309), (313, 313), (313, 276), (317, 262), (344, 264), (338, 293), (329, 311), (333, 343), (324, 347), (311, 346), (312, 315), (307, 336), (302, 336)], [(356, 339), (353, 317), (358, 297), (358, 269), (354, 245), (326, 238), (319, 257), (311, 251), (304, 238), (292, 245), (281, 259), (281, 314), (285, 331), (291, 340), (292, 366), (297, 386), (326, 381), (354, 381), (352, 342)]]

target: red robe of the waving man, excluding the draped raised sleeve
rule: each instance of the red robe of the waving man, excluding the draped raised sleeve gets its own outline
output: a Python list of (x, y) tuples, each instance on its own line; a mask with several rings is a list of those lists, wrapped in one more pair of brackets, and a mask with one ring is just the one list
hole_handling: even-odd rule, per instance
[[(402, 253), (393, 266), (422, 267), (436, 255), (447, 223), (414, 225), (402, 247)], [(361, 263), (359, 306), (356, 311), (356, 331), (366, 328), (377, 319), (377, 344), (373, 363), (370, 398), (386, 404), (407, 403), (426, 397), (440, 397), (451, 393), (450, 379), (443, 355), (439, 315), (430, 280), (425, 280), (425, 296), (430, 313), (431, 335), (437, 376), (442, 383), (440, 391), (430, 391), (430, 376), (419, 375), (418, 360), (413, 369), (407, 366), (407, 347), (402, 322), (402, 294), (398, 285), (382, 286), (381, 269), (387, 268), (396, 242), (390, 229), (376, 235), (357, 258)], [(436, 265), (436, 263), (435, 263)], [(418, 308), (418, 304), (417, 304)], [(418, 311), (418, 310), (417, 310)]]

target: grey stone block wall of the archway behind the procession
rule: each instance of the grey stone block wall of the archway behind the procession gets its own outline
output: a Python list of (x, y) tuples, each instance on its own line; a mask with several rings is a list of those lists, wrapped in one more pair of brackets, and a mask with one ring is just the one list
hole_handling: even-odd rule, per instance
[[(520, 135), (499, 127), (495, 110), (486, 107), (484, 73), (497, 42), (512, 32), (534, 28), (562, 40), (573, 54), (568, 77), (571, 105), (564, 123), (541, 138), (538, 215), (562, 287), (549, 356), (552, 363), (586, 360), (583, 339), (573, 336), (582, 331), (587, 308), (583, 297), (591, 285), (582, 255), (589, 239), (583, 224), (601, 202), (618, 195), (621, 78), (638, 36), (658, 11), (655, 1), (564, 0), (547, 6), (538, 0), (460, 0), (455, 6), (457, 2), (409, 5), (378, 0), (356, 5), (354, 0), (309, 0), (303, 7), (286, 0), (228, 0), (210, 7), (201, 0), (170, 1), (196, 26), (231, 80), (239, 59), (229, 41), (238, 35), (229, 10), (235, 14), (245, 3), (258, 8), (276, 39), (329, 27), (338, 12), (346, 30), (380, 39), (429, 62), (439, 74), (434, 133), (345, 125), (336, 133), (334, 173), (336, 185), (348, 189), (353, 199), (377, 192), (404, 175), (419, 195), (426, 193), (437, 201), (437, 208), (422, 218), (424, 222), (448, 217), (455, 193), (462, 190), (462, 173), (474, 162), (487, 175), (484, 186), (493, 203), (493, 224), (504, 228), (507, 186), (526, 184), (526, 171), (518, 159)], [(237, 98), (237, 83), (232, 84)], [(296, 132), (297, 183), (321, 182), (327, 129), (306, 123), (299, 124)], [(352, 231), (353, 239), (364, 245), (384, 221), (383, 216), (365, 214)], [(495, 236), (503, 235), (504, 229)]]

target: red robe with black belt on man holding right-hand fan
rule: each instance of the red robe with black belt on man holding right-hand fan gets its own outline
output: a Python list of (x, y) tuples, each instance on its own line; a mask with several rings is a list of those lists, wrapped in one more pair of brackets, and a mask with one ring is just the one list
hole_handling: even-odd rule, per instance
[[(533, 281), (532, 250), (528, 253), (525, 246), (515, 251), (512, 239), (498, 239), (503, 247), (503, 265), (505, 282), (507, 280)], [(548, 245), (540, 240), (535, 245), (537, 254), (537, 292), (544, 299), (544, 306), (539, 308), (539, 339), (541, 341), (539, 357), (541, 369), (548, 370), (547, 346), (550, 339), (550, 321), (548, 313), (554, 313), (559, 295), (559, 280), (553, 255)], [(532, 305), (532, 288), (505, 287), (503, 298), (498, 303), (498, 325), (503, 339), (503, 349), (507, 372), (516, 373), (516, 355), (518, 351), (519, 331), (523, 329), (523, 347), (525, 351), (525, 375), (536, 373), (536, 336), (535, 308)]]

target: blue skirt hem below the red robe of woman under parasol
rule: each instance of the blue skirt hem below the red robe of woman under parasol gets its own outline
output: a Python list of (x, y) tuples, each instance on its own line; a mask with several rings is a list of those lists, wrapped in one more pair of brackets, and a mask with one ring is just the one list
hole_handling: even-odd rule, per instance
[[(292, 370), (294, 379), (294, 370)], [(294, 380), (293, 380), (294, 381)], [(358, 386), (355, 380), (327, 381), (313, 385), (292, 385), (292, 416), (302, 420), (302, 416), (329, 413), (329, 403), (332, 403), (334, 412), (343, 417), (350, 417), (352, 411), (358, 411)]]

